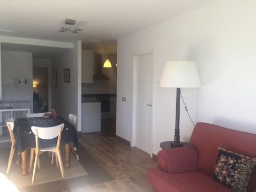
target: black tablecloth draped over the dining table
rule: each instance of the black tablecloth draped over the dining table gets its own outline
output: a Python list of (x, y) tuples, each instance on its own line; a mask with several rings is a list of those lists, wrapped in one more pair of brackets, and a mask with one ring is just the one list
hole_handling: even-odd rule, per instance
[[(44, 118), (44, 117), (34, 117), (34, 118), (20, 118), (16, 119), (14, 122), (13, 134), (15, 137), (14, 148), (18, 152), (18, 155), (28, 148), (35, 147), (35, 135), (31, 130), (31, 126), (39, 127), (50, 127), (56, 126), (64, 123), (64, 128), (61, 133), (61, 144), (63, 143), (73, 143), (78, 149), (78, 138), (75, 127), (61, 117), (57, 118)], [(56, 146), (57, 137), (50, 140), (39, 139), (39, 147), (50, 147)]]

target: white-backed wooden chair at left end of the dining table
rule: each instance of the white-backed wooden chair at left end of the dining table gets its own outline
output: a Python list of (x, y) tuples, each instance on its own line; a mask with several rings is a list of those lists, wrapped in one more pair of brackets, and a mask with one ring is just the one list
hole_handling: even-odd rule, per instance
[(7, 174), (10, 173), (10, 169), (11, 169), (11, 165), (12, 165), (12, 159), (13, 159), (13, 155), (15, 152), (15, 148), (14, 148), (14, 144), (15, 144), (15, 138), (13, 135), (13, 128), (14, 128), (14, 119), (10, 118), (6, 121), (6, 125), (8, 127), (9, 133), (10, 133), (10, 137), (11, 137), (11, 151), (10, 151), (10, 155), (9, 155), (9, 161), (8, 161), (8, 166), (7, 166)]

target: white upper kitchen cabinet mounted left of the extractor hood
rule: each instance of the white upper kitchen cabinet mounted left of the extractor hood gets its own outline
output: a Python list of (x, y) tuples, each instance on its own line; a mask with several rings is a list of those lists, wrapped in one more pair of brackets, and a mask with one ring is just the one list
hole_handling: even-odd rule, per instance
[(93, 82), (93, 51), (82, 50), (82, 82)]

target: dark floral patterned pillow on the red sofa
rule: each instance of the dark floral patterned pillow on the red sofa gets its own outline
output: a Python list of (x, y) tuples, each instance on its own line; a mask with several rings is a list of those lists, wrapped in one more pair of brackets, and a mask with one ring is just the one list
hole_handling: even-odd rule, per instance
[(246, 157), (219, 147), (213, 179), (235, 191), (246, 191), (256, 158)]

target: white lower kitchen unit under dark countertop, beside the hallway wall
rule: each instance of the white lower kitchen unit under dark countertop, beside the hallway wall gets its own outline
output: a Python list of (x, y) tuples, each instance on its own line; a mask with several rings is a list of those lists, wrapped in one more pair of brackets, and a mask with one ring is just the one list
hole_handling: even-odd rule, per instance
[(101, 102), (82, 102), (82, 133), (100, 132)]

